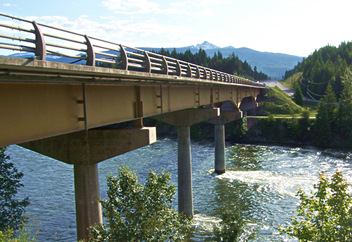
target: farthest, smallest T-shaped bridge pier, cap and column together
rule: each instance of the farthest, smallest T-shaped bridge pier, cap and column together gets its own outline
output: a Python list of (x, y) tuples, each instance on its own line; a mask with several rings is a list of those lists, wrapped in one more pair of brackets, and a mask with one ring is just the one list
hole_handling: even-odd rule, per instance
[(215, 125), (215, 173), (223, 174), (225, 167), (225, 123), (230, 123), (242, 118), (242, 112), (226, 111), (221, 112), (220, 116), (208, 120)]

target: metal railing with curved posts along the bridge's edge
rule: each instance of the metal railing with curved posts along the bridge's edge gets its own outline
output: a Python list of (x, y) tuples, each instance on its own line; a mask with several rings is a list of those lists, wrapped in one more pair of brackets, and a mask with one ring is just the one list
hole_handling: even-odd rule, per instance
[[(71, 60), (70, 63), (82, 63), (85, 60), (87, 66), (95, 66), (96, 63), (111, 63), (115, 64), (115, 68), (121, 70), (161, 73), (164, 75), (263, 87), (260, 83), (255, 83), (236, 75), (215, 71), (161, 54), (100, 40), (95, 37), (37, 23), (25, 18), (11, 16), (6, 13), (0, 13), (0, 16), (11, 20), (19, 20), (27, 25), (23, 27), (0, 22), (0, 27), (2, 27), (4, 32), (6, 32), (5, 30), (11, 30), (11, 33), (13, 31), (23, 33), (21, 36), (15, 36), (0, 32), (1, 39), (16, 41), (16, 44), (12, 42), (0, 42), (0, 49), (32, 52), (34, 53), (33, 58), (42, 61), (46, 60), (47, 55), (59, 56), (69, 58)], [(46, 32), (43, 31), (44, 29)], [(71, 37), (67, 37), (68, 35)], [(18, 42), (25, 42), (25, 44), (19, 44)], [(58, 49), (65, 53), (58, 52)]]

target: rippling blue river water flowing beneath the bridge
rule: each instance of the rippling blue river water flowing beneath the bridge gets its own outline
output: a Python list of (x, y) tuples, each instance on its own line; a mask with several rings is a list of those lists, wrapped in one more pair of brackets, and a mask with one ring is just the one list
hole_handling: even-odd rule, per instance
[[(12, 145), (8, 155), (22, 182), (18, 197), (29, 197), (27, 212), (40, 222), (39, 241), (75, 241), (73, 166)], [(317, 181), (318, 172), (336, 169), (352, 179), (352, 152), (319, 150), (315, 147), (226, 144), (227, 172), (213, 174), (214, 146), (209, 140), (191, 142), (194, 222), (191, 241), (211, 241), (213, 225), (223, 213), (241, 212), (246, 219), (246, 241), (296, 241), (282, 236), (277, 224), (289, 221), (296, 209), (296, 189), (306, 191)], [(162, 138), (153, 145), (108, 159), (99, 164), (101, 198), (106, 198), (106, 175), (120, 165), (134, 169), (143, 181), (150, 169), (168, 170), (177, 185), (177, 140)], [(175, 195), (177, 208), (177, 194)]]

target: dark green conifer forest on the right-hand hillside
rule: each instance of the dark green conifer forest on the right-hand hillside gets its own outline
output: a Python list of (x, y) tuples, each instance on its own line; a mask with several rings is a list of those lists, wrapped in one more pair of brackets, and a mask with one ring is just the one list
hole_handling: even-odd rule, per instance
[(352, 42), (341, 42), (339, 47), (327, 45), (315, 50), (285, 73), (286, 78), (301, 73), (296, 87), (303, 95), (319, 100), (315, 122), (307, 130), (315, 145), (352, 147), (351, 63)]

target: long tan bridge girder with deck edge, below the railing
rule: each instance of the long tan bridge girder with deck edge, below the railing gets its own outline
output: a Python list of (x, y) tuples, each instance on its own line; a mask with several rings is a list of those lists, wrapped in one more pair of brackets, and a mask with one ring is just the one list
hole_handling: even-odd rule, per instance
[(0, 74), (0, 147), (206, 104), (230, 101), (238, 109), (241, 99), (260, 92), (246, 85), (8, 57), (0, 57)]

